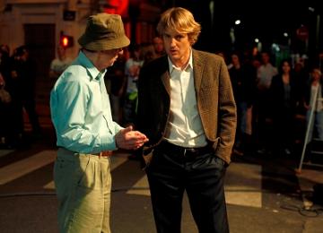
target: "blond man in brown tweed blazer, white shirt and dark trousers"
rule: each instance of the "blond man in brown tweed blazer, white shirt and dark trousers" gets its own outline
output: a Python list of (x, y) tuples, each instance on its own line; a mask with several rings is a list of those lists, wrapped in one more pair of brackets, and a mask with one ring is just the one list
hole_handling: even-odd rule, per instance
[(143, 154), (157, 232), (180, 232), (185, 191), (200, 233), (229, 232), (223, 182), (237, 115), (227, 66), (192, 48), (201, 26), (188, 10), (162, 13), (157, 30), (167, 56), (142, 68), (137, 112), (137, 129), (149, 137)]

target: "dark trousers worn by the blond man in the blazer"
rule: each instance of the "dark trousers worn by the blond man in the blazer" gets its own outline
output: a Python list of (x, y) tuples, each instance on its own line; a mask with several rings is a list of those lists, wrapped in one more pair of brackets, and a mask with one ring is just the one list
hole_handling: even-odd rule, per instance
[(200, 233), (229, 232), (224, 162), (213, 151), (186, 156), (162, 145), (146, 168), (158, 233), (179, 233), (184, 191)]

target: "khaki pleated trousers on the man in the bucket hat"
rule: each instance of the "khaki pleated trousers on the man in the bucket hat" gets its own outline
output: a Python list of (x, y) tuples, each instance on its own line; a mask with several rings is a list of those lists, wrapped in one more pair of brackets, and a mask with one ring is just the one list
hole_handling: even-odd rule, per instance
[(59, 148), (54, 167), (61, 233), (109, 233), (109, 157)]

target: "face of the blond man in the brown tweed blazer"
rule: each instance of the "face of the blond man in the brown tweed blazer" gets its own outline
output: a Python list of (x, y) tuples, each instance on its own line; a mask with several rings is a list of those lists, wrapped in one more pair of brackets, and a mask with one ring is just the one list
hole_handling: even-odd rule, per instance
[(171, 62), (176, 66), (185, 65), (189, 59), (191, 43), (187, 33), (167, 29), (162, 35), (164, 47)]

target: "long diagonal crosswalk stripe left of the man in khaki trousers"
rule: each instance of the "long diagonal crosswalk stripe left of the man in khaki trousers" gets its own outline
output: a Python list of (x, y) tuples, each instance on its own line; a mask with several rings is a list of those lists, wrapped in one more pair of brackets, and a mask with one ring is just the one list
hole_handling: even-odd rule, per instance
[(0, 168), (0, 185), (4, 185), (16, 178), (52, 163), (56, 159), (56, 151), (40, 151), (39, 153)]

